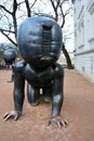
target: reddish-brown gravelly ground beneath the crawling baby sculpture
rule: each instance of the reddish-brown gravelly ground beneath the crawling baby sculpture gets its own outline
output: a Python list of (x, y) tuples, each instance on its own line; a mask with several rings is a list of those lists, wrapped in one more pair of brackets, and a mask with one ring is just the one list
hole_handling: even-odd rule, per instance
[(0, 70), (0, 141), (94, 141), (94, 85), (75, 69), (65, 69), (65, 101), (62, 116), (67, 128), (46, 126), (51, 104), (30, 106), (25, 99), (19, 120), (3, 121), (6, 111), (13, 110), (11, 70)]

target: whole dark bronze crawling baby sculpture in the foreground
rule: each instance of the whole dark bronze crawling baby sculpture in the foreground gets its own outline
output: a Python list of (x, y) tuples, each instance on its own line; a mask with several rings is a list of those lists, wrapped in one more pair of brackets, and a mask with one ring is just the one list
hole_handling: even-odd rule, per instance
[(42, 89), (43, 100), (52, 103), (49, 125), (66, 126), (67, 121), (61, 117), (64, 70), (56, 63), (62, 48), (61, 27), (49, 17), (28, 17), (18, 28), (17, 42), (24, 61), (15, 63), (14, 111), (5, 113), (4, 120), (22, 115), (27, 80), (28, 102), (39, 104)]

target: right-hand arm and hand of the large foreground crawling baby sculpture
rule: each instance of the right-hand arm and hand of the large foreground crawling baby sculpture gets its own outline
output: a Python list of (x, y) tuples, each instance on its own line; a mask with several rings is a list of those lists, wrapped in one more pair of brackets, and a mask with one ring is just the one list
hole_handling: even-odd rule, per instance
[(52, 113), (49, 120), (49, 125), (56, 124), (59, 128), (62, 126), (66, 127), (68, 125), (67, 120), (63, 119), (61, 116), (61, 110), (64, 101), (63, 93), (64, 84), (64, 70), (61, 65), (56, 68), (54, 84), (53, 84), (53, 94), (52, 94)]

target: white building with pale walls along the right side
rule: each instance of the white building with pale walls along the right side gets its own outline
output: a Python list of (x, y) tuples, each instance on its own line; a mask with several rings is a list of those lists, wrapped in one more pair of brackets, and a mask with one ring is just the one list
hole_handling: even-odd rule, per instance
[(94, 82), (94, 0), (76, 0), (75, 67)]

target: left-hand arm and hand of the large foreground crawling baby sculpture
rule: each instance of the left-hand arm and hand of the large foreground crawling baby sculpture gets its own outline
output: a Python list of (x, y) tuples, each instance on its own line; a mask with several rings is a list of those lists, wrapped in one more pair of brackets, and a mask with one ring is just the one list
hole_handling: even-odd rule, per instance
[[(17, 63), (18, 64), (18, 63)], [(17, 66), (15, 64), (15, 81), (14, 81), (14, 111), (6, 112), (3, 116), (4, 120), (14, 118), (15, 120), (22, 115), (23, 103), (24, 103), (24, 88), (25, 88), (25, 78), (22, 76), (22, 69), (24, 64), (21, 62)]]

